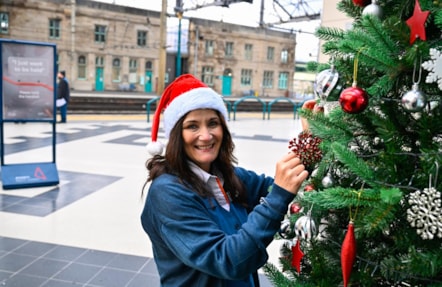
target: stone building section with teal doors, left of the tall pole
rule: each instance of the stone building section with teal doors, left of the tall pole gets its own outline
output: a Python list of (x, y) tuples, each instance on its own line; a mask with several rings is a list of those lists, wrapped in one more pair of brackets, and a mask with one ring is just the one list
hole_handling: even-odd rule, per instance
[(76, 90), (151, 92), (160, 13), (89, 0), (2, 0), (2, 38), (55, 43)]

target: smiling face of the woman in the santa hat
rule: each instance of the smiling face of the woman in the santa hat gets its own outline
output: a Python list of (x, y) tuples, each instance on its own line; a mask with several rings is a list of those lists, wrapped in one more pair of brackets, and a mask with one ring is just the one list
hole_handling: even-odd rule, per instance
[(214, 110), (189, 112), (183, 122), (184, 151), (191, 161), (209, 172), (223, 139), (221, 120)]

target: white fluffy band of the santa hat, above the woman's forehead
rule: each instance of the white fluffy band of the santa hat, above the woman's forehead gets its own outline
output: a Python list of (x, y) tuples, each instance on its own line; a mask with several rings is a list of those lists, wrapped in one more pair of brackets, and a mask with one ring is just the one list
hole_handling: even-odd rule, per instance
[(190, 111), (197, 109), (213, 109), (219, 111), (227, 120), (227, 109), (222, 97), (211, 88), (195, 88), (176, 97), (163, 114), (165, 137), (178, 120)]

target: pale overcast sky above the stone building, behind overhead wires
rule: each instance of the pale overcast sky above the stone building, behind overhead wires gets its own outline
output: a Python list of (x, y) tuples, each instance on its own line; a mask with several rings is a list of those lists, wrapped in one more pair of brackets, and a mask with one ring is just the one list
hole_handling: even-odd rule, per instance
[[(95, 0), (122, 6), (131, 6), (153, 11), (161, 11), (162, 0)], [(264, 4), (263, 21), (266, 24), (276, 24), (288, 20), (289, 15), (298, 16), (314, 14), (322, 10), (322, 0), (254, 0), (253, 4), (238, 2), (228, 8), (209, 6), (193, 10), (196, 7), (213, 5), (220, 0), (182, 0), (185, 10), (184, 17), (203, 18), (224, 21), (239, 25), (257, 27), (261, 19), (261, 6)], [(264, 2), (261, 2), (264, 1)], [(174, 14), (176, 0), (167, 1), (167, 12)], [(282, 6), (282, 8), (281, 8)], [(190, 9), (190, 10), (189, 10)], [(177, 25), (176, 19), (169, 18), (168, 26)], [(294, 29), (297, 33), (296, 60), (311, 61), (317, 59), (318, 39), (313, 35), (320, 21), (292, 22), (282, 25), (286, 29)]]

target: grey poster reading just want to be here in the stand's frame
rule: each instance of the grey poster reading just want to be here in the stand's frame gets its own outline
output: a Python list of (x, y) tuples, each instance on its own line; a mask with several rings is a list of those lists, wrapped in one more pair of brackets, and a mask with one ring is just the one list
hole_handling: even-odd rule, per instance
[(54, 119), (54, 51), (51, 46), (1, 43), (3, 120)]

